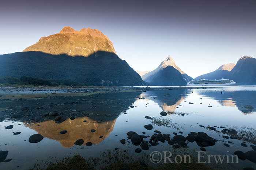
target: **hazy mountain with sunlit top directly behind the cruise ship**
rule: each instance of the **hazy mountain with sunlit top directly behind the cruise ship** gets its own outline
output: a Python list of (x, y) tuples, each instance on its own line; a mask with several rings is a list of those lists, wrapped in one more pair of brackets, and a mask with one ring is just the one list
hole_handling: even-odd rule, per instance
[(234, 66), (236, 66), (234, 63), (224, 64), (215, 71), (196, 77), (195, 80), (200, 80), (201, 78), (208, 80), (219, 80), (222, 78), (227, 79), (229, 72), (234, 68)]

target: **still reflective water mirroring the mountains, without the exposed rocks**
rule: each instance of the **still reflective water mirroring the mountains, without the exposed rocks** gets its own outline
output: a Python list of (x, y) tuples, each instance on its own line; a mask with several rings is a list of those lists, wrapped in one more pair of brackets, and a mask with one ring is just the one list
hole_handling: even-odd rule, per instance
[[(52, 91), (50, 91), (52, 92)], [(23, 91), (24, 93), (24, 91)], [(15, 94), (13, 94), (15, 95)], [(94, 95), (91, 96), (94, 98)], [(144, 98), (144, 99), (143, 99)], [(10, 162), (1, 162), (1, 169), (27, 169), (33, 167), (34, 163), (41, 161), (55, 161), (65, 156), (72, 157), (80, 154), (82, 157), (98, 157), (103, 151), (112, 150), (117, 147), (119, 150), (126, 150), (126, 154), (140, 156), (143, 153), (150, 154), (153, 151), (172, 151), (172, 145), (160, 143), (158, 146), (151, 146), (149, 150), (142, 150), (135, 153), (132, 143), (120, 143), (121, 139), (127, 139), (128, 131), (135, 131), (139, 135), (153, 135), (154, 130), (161, 131), (162, 134), (182, 132), (185, 137), (190, 132), (205, 132), (208, 136), (221, 140), (214, 146), (206, 148), (208, 155), (233, 155), (234, 151), (241, 150), (244, 153), (252, 150), (250, 145), (255, 145), (256, 141), (256, 109), (248, 110), (246, 105), (256, 107), (256, 87), (254, 86), (229, 86), (206, 89), (173, 89), (173, 90), (147, 90), (135, 92), (116, 92), (111, 94), (98, 94), (92, 103), (91, 108), (83, 107), (83, 103), (78, 103), (80, 109), (88, 110), (93, 116), (78, 116), (76, 119), (66, 119), (62, 123), (55, 123), (54, 120), (42, 120), (39, 122), (20, 122), (19, 120), (5, 119), (0, 122), (0, 150), (8, 151), (6, 159)], [(109, 102), (104, 107), (100, 104)], [(38, 99), (37, 102), (40, 102)], [(45, 99), (43, 102), (47, 102)], [(49, 103), (53, 99), (49, 99)], [(130, 107), (130, 105), (134, 107)], [(4, 104), (1, 103), (1, 107)], [(61, 105), (62, 107), (71, 107)], [(212, 107), (208, 107), (212, 106)], [(15, 106), (13, 106), (15, 107)], [(27, 106), (24, 106), (27, 107)], [(78, 110), (78, 108), (76, 108)], [(97, 110), (98, 109), (98, 110)], [(6, 110), (0, 114), (3, 114)], [(112, 114), (109, 115), (108, 110)], [(246, 111), (245, 111), (246, 110)], [(161, 116), (161, 111), (167, 112), (167, 116)], [(71, 112), (71, 111), (68, 111)], [(108, 112), (107, 114), (105, 112)], [(153, 119), (146, 119), (151, 116)], [(86, 120), (86, 122), (83, 122)], [(4, 127), (13, 125), (13, 129)], [(153, 130), (147, 130), (144, 125), (152, 124)], [(200, 127), (203, 125), (204, 127)], [(207, 129), (207, 126), (217, 126), (216, 130), (223, 126), (227, 129), (235, 129), (238, 134), (249, 134), (246, 141), (248, 147), (242, 147), (243, 139), (223, 139), (220, 132)], [(95, 132), (91, 132), (95, 129)], [(66, 134), (60, 134), (62, 130), (67, 130)], [(13, 132), (21, 132), (13, 135)], [(39, 143), (29, 143), (29, 137), (39, 133), (44, 139)], [(178, 133), (179, 134), (179, 133)], [(102, 138), (99, 138), (103, 136)], [(83, 139), (82, 146), (74, 145), (78, 139)], [(149, 138), (146, 140), (148, 141)], [(129, 140), (128, 140), (129, 141)], [(223, 142), (222, 142), (223, 141)], [(226, 147), (223, 143), (229, 143)], [(85, 143), (92, 142), (92, 146)], [(5, 145), (6, 144), (6, 145)], [(200, 151), (196, 142), (188, 142), (189, 149)], [(149, 161), (149, 158), (148, 158)], [(18, 167), (17, 167), (18, 166)], [(225, 165), (227, 166), (227, 165)], [(231, 168), (241, 169), (242, 167), (255, 167), (256, 164), (246, 159), (238, 164), (230, 164)]]

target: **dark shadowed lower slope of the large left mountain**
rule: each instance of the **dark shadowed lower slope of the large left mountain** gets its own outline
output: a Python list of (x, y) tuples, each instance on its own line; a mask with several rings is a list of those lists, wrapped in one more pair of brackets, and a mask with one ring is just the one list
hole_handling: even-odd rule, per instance
[(72, 80), (94, 86), (142, 86), (143, 80), (116, 54), (97, 51), (87, 57), (16, 52), (0, 55), (0, 77), (29, 76)]

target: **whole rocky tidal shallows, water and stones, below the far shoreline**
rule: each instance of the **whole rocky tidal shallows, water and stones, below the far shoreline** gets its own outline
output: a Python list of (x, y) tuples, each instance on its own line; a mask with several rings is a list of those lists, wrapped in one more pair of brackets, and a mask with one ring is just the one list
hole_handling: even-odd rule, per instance
[(0, 169), (255, 169), (255, 99), (254, 86), (0, 88)]

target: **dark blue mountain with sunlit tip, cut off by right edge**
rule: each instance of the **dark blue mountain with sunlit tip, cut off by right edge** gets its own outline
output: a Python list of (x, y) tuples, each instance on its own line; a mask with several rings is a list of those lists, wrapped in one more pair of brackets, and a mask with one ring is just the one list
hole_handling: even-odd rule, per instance
[(256, 59), (243, 56), (230, 71), (229, 79), (242, 85), (256, 85)]

